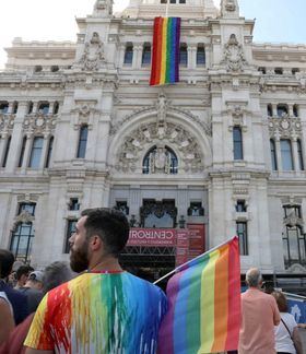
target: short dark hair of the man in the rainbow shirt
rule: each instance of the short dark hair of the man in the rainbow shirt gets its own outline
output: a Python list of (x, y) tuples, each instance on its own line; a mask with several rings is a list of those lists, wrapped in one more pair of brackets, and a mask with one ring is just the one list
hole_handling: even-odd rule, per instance
[(107, 208), (86, 209), (82, 216), (87, 216), (84, 227), (86, 237), (99, 236), (107, 253), (118, 258), (129, 239), (129, 222), (125, 214)]

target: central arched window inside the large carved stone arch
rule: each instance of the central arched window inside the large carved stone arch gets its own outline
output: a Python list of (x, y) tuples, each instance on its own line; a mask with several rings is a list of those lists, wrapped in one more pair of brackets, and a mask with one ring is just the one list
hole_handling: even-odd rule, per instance
[(144, 175), (161, 173), (176, 175), (178, 161), (174, 151), (168, 146), (153, 146), (143, 158), (142, 173)]

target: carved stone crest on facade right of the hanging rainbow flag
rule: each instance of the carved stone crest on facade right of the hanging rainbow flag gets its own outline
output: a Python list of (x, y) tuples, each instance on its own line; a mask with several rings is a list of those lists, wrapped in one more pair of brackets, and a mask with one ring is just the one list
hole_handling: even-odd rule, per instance
[(242, 45), (239, 45), (236, 35), (232, 34), (224, 47), (224, 59), (222, 63), (226, 64), (228, 71), (243, 71), (247, 64)]

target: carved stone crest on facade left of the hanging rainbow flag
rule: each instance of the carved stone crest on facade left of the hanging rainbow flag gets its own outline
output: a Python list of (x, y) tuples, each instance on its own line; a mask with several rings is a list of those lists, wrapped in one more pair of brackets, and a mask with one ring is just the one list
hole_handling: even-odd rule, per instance
[(85, 43), (84, 52), (79, 61), (82, 70), (98, 70), (106, 63), (104, 45), (97, 32), (93, 33), (92, 39)]

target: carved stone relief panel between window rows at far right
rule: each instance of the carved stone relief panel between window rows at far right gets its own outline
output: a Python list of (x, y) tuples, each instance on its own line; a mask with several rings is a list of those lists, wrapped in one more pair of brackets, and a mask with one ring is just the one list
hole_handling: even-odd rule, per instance
[(302, 135), (301, 118), (269, 118), (270, 137), (291, 138), (292, 135)]

